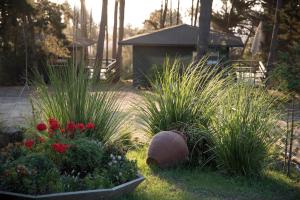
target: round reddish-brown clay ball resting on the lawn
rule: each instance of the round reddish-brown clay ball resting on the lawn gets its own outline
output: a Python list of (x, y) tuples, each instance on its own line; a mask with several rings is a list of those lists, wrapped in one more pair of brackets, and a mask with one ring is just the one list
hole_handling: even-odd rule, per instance
[(178, 131), (161, 131), (151, 140), (148, 149), (148, 165), (172, 167), (188, 159), (186, 137)]

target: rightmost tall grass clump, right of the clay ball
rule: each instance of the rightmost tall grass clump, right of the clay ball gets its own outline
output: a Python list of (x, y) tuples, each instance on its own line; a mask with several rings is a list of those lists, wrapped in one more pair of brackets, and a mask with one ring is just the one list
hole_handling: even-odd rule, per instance
[(210, 125), (218, 166), (235, 175), (260, 174), (278, 140), (274, 99), (263, 89), (234, 84), (219, 101)]

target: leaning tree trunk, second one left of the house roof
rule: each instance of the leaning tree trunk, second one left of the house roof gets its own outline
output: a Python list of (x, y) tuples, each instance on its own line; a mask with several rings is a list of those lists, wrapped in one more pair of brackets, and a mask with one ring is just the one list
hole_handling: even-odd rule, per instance
[(101, 21), (99, 28), (99, 37), (97, 42), (97, 51), (96, 51), (96, 59), (95, 59), (95, 69), (94, 69), (94, 77), (97, 80), (100, 80), (100, 72), (102, 68), (102, 60), (103, 60), (103, 50), (104, 50), (104, 39), (105, 39), (105, 27), (107, 25), (107, 1), (102, 1), (102, 13), (101, 13)]

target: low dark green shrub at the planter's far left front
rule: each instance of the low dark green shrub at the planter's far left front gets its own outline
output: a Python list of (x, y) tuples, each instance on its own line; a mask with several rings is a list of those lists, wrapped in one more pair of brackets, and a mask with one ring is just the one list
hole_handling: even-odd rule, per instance
[(1, 173), (0, 188), (28, 194), (56, 191), (60, 173), (54, 163), (43, 154), (29, 154), (6, 162)]

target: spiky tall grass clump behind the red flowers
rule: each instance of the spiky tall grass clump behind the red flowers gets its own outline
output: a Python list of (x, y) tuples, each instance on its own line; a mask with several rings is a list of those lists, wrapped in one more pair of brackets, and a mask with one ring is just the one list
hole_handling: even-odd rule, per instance
[(62, 124), (92, 121), (95, 130), (88, 135), (104, 145), (120, 142), (127, 134), (122, 130), (126, 116), (120, 114), (117, 92), (93, 84), (83, 67), (69, 65), (61, 70), (48, 67), (48, 74), (51, 87), (38, 74), (34, 81), (35, 107), (44, 119), (54, 117)]

